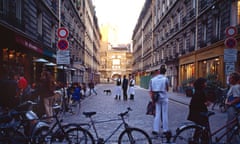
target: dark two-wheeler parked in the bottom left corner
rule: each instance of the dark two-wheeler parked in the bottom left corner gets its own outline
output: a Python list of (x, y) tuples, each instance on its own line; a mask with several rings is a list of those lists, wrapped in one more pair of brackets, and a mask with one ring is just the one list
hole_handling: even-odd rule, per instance
[(0, 144), (32, 143), (34, 129), (48, 127), (47, 123), (40, 121), (31, 110), (35, 104), (32, 101), (26, 101), (0, 115)]

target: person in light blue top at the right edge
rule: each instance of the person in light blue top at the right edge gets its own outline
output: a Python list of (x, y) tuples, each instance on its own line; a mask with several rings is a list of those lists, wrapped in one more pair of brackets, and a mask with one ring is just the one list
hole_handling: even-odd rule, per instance
[[(233, 72), (230, 74), (230, 77), (228, 79), (230, 88), (227, 92), (227, 99), (225, 104), (227, 105), (227, 123), (232, 121), (235, 118), (236, 115), (236, 109), (240, 108), (240, 74), (237, 72)], [(234, 106), (234, 107), (232, 107)], [(228, 125), (227, 131), (231, 129), (232, 125)], [(232, 136), (231, 132), (228, 132), (227, 139), (229, 139)], [(240, 139), (234, 136), (232, 138), (232, 141), (230, 143), (240, 143)]]

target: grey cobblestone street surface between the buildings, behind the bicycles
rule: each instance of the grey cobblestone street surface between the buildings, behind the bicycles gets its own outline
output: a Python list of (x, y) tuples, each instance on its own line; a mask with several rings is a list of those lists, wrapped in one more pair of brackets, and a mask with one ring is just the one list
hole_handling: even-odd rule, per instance
[[(118, 114), (124, 112), (128, 107), (132, 108), (130, 115), (127, 119), (129, 124), (133, 127), (138, 127), (144, 129), (150, 137), (152, 131), (152, 123), (153, 123), (153, 116), (146, 115), (146, 106), (150, 100), (148, 95), (148, 90), (142, 89), (140, 87), (136, 87), (136, 96), (134, 100), (115, 100), (114, 99), (114, 87), (113, 84), (99, 84), (96, 86), (96, 91), (98, 95), (92, 95), (85, 98), (81, 104), (81, 110), (79, 115), (67, 114), (65, 117), (66, 122), (76, 122), (76, 123), (84, 123), (88, 122), (88, 118), (85, 118), (82, 112), (90, 112), (95, 111), (97, 114), (93, 116), (94, 120), (102, 121), (102, 120), (109, 120), (109, 119), (116, 119), (118, 118)], [(111, 89), (112, 94), (106, 95), (103, 90), (104, 89)], [(173, 134), (175, 134), (175, 130), (179, 127), (182, 123), (187, 122), (187, 114), (188, 114), (188, 105), (190, 98), (185, 97), (183, 94), (179, 94), (178, 99), (176, 97), (176, 93), (169, 93), (170, 101), (169, 101), (169, 128)], [(182, 101), (180, 102), (180, 99)], [(184, 104), (185, 101), (185, 104)], [(210, 109), (209, 109), (210, 110)], [(214, 110), (216, 115), (212, 116), (210, 119), (212, 130), (216, 129), (220, 125), (224, 124), (226, 121), (226, 114), (221, 113), (218, 108)], [(107, 122), (97, 124), (97, 130), (101, 137), (107, 138), (113, 131), (117, 124), (120, 121), (114, 122)], [(92, 131), (93, 132), (93, 131)], [(94, 133), (93, 133), (94, 134)], [(111, 139), (113, 142), (116, 142), (116, 138), (119, 133), (113, 136)], [(94, 135), (95, 136), (95, 135)], [(153, 140), (153, 141), (156, 141)], [(157, 141), (160, 141), (159, 139)], [(158, 143), (158, 142), (154, 142)]]

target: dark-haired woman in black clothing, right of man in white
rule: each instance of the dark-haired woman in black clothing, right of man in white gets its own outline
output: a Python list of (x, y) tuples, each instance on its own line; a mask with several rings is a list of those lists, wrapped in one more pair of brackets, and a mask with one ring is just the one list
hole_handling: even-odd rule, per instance
[(198, 78), (194, 82), (195, 93), (190, 101), (188, 115), (188, 120), (202, 126), (208, 126), (208, 118), (202, 116), (201, 113), (207, 112), (207, 106), (211, 104), (211, 102), (207, 100), (204, 90), (206, 88), (206, 81), (204, 78)]

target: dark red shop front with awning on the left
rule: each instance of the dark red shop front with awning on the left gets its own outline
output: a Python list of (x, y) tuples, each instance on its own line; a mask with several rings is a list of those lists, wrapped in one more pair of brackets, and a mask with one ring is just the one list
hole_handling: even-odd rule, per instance
[(54, 53), (19, 33), (3, 27), (0, 30), (5, 34), (0, 44), (0, 77), (22, 73), (29, 83), (38, 80), (44, 63), (34, 60), (44, 58), (54, 62)]

